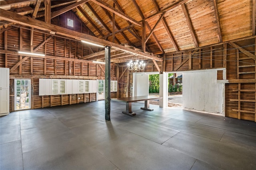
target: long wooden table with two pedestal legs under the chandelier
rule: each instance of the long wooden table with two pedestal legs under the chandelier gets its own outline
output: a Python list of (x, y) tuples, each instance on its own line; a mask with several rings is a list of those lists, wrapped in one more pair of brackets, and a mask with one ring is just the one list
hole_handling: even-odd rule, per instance
[(126, 111), (122, 111), (122, 113), (126, 115), (134, 116), (136, 113), (132, 111), (132, 102), (139, 102), (139, 101), (145, 101), (144, 107), (140, 107), (140, 109), (152, 111), (154, 109), (149, 108), (149, 100), (153, 99), (159, 99), (157, 96), (134, 96), (134, 97), (128, 97), (128, 98), (113, 98), (111, 100), (118, 101), (118, 102), (125, 102), (126, 103)]

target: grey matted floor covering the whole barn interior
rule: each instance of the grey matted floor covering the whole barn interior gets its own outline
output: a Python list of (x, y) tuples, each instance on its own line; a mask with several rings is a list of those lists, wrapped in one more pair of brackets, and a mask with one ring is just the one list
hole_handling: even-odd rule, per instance
[(104, 101), (16, 111), (0, 118), (1, 170), (256, 169), (256, 123)]

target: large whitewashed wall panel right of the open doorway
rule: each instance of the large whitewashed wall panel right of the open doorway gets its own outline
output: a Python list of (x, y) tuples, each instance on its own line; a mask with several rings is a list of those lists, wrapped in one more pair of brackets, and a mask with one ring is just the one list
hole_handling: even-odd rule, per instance
[(223, 114), (224, 84), (217, 83), (217, 70), (184, 72), (182, 91), (185, 109)]

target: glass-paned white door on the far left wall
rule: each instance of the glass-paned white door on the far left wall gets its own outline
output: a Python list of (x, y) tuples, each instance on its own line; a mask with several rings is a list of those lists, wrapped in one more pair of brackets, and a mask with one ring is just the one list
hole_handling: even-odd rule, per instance
[(15, 110), (30, 109), (30, 87), (28, 79), (14, 79)]

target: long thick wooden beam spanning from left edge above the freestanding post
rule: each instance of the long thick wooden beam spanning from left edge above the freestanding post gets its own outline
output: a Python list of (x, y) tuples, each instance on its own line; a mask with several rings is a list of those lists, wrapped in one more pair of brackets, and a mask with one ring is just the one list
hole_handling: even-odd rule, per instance
[(18, 24), (26, 25), (28, 27), (34, 27), (36, 29), (40, 29), (44, 31), (49, 31), (49, 32), (54, 31), (56, 32), (56, 35), (62, 35), (62, 36), (70, 37), (77, 40), (86, 40), (86, 41), (97, 43), (104, 46), (109, 45), (110, 47), (112, 47), (112, 49), (116, 49), (118, 51), (124, 51), (126, 53), (144, 57), (146, 59), (155, 59), (156, 61), (163, 61), (163, 59), (155, 57), (154, 55), (142, 53), (141, 51), (136, 51), (134, 49), (130, 49), (122, 45), (112, 43), (110, 41), (99, 39), (97, 37), (94, 37), (88, 34), (73, 31), (71, 29), (66, 29), (57, 25), (47, 24), (43, 21), (35, 20), (27, 16), (21, 16), (19, 14), (15, 14), (14, 12), (0, 9), (0, 13), (1, 13), (0, 20), (13, 21)]

